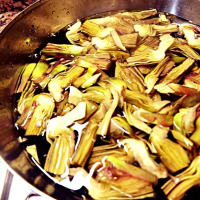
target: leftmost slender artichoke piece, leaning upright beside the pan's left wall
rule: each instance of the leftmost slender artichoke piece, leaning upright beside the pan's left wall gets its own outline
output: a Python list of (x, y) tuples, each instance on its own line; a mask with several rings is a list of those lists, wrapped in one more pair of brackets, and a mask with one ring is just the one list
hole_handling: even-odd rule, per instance
[(36, 63), (28, 63), (23, 66), (22, 72), (19, 77), (20, 83), (15, 93), (20, 93), (24, 91), (26, 84), (29, 78), (31, 77), (31, 74), (34, 71), (36, 65), (37, 65)]

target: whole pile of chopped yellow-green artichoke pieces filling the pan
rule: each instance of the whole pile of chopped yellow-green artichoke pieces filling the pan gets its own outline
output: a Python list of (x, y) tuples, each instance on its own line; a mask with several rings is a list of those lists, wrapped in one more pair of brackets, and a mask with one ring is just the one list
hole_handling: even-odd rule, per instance
[[(17, 82), (22, 138), (43, 170), (93, 199), (181, 199), (200, 184), (200, 37), (155, 9), (78, 20)], [(75, 184), (76, 183), (76, 184)]]

